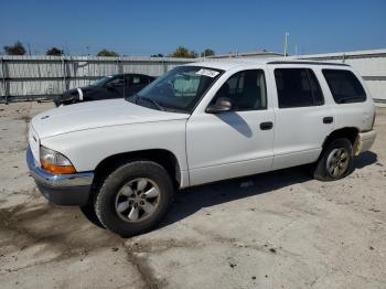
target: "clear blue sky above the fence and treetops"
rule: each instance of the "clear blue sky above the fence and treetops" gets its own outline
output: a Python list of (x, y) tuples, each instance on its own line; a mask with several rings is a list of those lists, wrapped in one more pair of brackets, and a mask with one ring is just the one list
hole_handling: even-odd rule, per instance
[(296, 42), (300, 54), (386, 49), (384, 0), (0, 1), (0, 47), (20, 40), (32, 54), (282, 52), (286, 31), (290, 54)]

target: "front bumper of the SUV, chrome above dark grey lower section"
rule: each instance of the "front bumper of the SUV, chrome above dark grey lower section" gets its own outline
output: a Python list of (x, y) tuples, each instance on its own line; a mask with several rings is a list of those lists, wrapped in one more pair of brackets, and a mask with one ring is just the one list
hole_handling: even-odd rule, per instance
[(40, 168), (32, 156), (30, 147), (26, 150), (26, 163), (31, 176), (50, 202), (57, 205), (85, 205), (93, 184), (93, 172), (74, 174), (52, 174)]

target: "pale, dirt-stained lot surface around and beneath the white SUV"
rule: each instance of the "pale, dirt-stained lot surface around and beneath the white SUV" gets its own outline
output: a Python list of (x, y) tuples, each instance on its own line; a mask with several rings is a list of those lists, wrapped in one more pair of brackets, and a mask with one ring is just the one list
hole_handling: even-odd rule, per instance
[(191, 189), (158, 229), (122, 239), (36, 191), (26, 127), (50, 107), (0, 105), (2, 289), (386, 288), (385, 108), (346, 179), (297, 168)]

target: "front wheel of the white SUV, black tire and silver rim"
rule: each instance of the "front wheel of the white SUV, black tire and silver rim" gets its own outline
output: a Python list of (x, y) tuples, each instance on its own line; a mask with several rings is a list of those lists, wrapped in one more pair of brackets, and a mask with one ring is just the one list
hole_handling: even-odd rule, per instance
[(95, 212), (106, 228), (128, 237), (156, 226), (173, 195), (172, 181), (163, 167), (152, 161), (128, 162), (104, 181)]

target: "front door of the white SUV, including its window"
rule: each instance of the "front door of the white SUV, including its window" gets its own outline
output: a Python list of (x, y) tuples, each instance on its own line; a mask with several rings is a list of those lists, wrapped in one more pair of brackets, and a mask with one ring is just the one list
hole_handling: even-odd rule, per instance
[(242, 71), (218, 89), (226, 113), (193, 114), (186, 124), (191, 185), (269, 171), (274, 157), (274, 109), (262, 69)]

